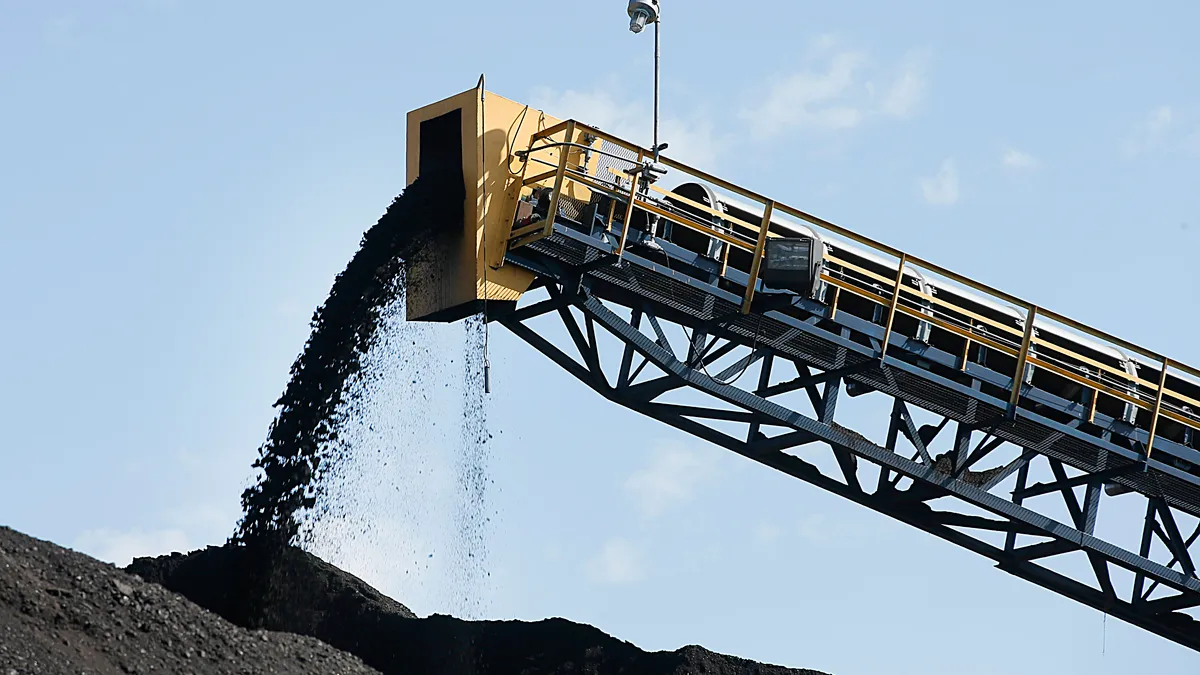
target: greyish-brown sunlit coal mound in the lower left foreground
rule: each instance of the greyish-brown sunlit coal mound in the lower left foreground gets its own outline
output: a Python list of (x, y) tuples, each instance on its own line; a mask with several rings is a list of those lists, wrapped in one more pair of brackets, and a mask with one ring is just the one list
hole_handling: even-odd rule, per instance
[(367, 674), (312, 638), (251, 632), (158, 585), (0, 527), (0, 674)]

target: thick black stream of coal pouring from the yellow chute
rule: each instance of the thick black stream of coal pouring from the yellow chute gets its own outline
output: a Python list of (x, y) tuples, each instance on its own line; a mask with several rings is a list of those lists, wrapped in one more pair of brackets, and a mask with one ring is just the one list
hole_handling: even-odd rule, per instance
[(295, 540), (300, 514), (317, 501), (323, 452), (337, 440), (346, 386), (376, 340), (380, 312), (403, 292), (404, 259), (438, 229), (462, 228), (461, 173), (422, 175), (392, 201), (362, 237), (359, 251), (334, 281), (312, 318), (308, 341), (254, 468), (258, 483), (242, 494), (244, 518), (233, 540), (281, 546)]

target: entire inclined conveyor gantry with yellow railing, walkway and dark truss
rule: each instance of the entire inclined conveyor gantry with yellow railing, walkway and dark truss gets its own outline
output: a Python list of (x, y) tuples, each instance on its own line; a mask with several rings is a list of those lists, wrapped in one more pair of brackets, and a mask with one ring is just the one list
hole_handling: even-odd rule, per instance
[[(550, 171), (528, 168), (539, 150), (556, 147), (582, 148), (582, 161), (570, 166), (564, 150), (546, 162)], [(1200, 623), (1188, 614), (1200, 607), (1193, 556), (1200, 453), (1192, 437), (1200, 423), (1186, 405), (1192, 369), (1154, 362), (1152, 352), (666, 159), (660, 163), (672, 172), (757, 199), (757, 231), (715, 204), (647, 189), (638, 179), (649, 174), (636, 169), (648, 155), (578, 123), (539, 135), (521, 154), (533, 175), (526, 184), (551, 186), (554, 216), (518, 223), (505, 264), (532, 270), (547, 298), (492, 319), (613, 402), (1200, 650)], [(569, 192), (571, 181), (588, 191)], [(884, 275), (881, 283), (839, 252), (827, 262), (818, 297), (766, 287), (758, 263), (773, 214), (893, 256), (894, 282)], [(670, 237), (656, 250), (635, 246), (655, 216), (724, 249), (697, 251)], [(748, 264), (736, 256), (731, 263), (739, 249), (749, 252)], [(1009, 327), (1012, 336), (996, 327), (977, 330), (974, 319), (988, 319), (977, 315), (956, 324), (959, 310), (940, 312), (934, 304), (946, 304), (948, 292), (938, 299), (902, 287), (907, 265), (989, 293), (996, 306), (1016, 305), (1027, 311), (1024, 327)], [(864, 311), (868, 305), (876, 309)], [(530, 323), (546, 317), (562, 322), (569, 344), (554, 344)], [(1150, 382), (1138, 371), (1126, 381), (1106, 375), (1100, 357), (1054, 342), (1036, 321), (1138, 350), (1140, 365), (1160, 370)], [(947, 350), (930, 328), (935, 338), (959, 335), (965, 347)], [(668, 333), (686, 334), (686, 347)], [(618, 364), (602, 363), (601, 334), (622, 346)], [(727, 368), (712, 372), (720, 364)], [(706, 402), (670, 401), (683, 390)], [(863, 394), (892, 400), (880, 442), (838, 424), (839, 401)], [(938, 422), (918, 425), (914, 408)], [(829, 454), (826, 468), (820, 453)], [(1112, 536), (1102, 527), (1106, 536), (1099, 536), (1102, 502), (1144, 508), (1139, 531)]]

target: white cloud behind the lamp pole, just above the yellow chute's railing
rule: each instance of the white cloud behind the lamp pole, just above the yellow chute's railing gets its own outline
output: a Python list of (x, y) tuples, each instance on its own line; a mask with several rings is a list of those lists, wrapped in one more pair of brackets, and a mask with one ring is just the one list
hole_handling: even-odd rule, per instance
[[(654, 139), (653, 109), (641, 102), (619, 100), (612, 94), (617, 90), (614, 79), (590, 91), (539, 86), (530, 96), (530, 104), (551, 117), (576, 119), (649, 148)], [(724, 145), (709, 119), (698, 113), (683, 118), (666, 104), (659, 123), (659, 142), (670, 145), (664, 155), (692, 166), (714, 165)]]

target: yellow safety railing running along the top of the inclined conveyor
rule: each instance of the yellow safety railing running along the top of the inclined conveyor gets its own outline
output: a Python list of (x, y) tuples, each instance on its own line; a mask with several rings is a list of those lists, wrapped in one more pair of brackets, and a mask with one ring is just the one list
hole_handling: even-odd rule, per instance
[[(612, 154), (606, 155), (596, 148), (596, 141), (606, 141), (607, 143), (632, 154), (636, 160)], [(1134, 345), (1103, 330), (1091, 328), (1061, 313), (1037, 306), (1033, 303), (1022, 300), (985, 283), (967, 279), (966, 276), (954, 273), (942, 265), (923, 259), (918, 256), (906, 253), (899, 249), (888, 246), (887, 244), (876, 241), (869, 237), (864, 237), (800, 209), (770, 199), (763, 195), (746, 190), (668, 157), (659, 157), (658, 163), (667, 167), (668, 169), (674, 169), (686, 177), (696, 179), (700, 183), (708, 184), (709, 186), (737, 195), (743, 199), (748, 199), (761, 205), (763, 210), (761, 221), (748, 222), (742, 219), (736, 219), (728, 214), (683, 197), (682, 195), (677, 195), (670, 190), (665, 190), (653, 184), (643, 185), (641, 172), (634, 169), (641, 169), (643, 160), (654, 155), (650, 150), (617, 138), (595, 127), (587, 126), (576, 120), (568, 120), (539, 131), (533, 136), (529, 148), (522, 155), (526, 161), (523, 162), (520, 175), (514, 175), (514, 187), (518, 190), (533, 189), (535, 186), (552, 187), (553, 192), (551, 195), (550, 210), (547, 211), (548, 214), (558, 213), (559, 198), (564, 190), (569, 186), (575, 186), (576, 189), (590, 192), (605, 193), (613, 198), (613, 204), (612, 208), (610, 208), (606, 220), (608, 229), (611, 229), (613, 225), (616, 204), (617, 202), (620, 202), (624, 204), (625, 209), (623, 221), (625, 223), (630, 222), (635, 210), (642, 210), (647, 214), (656, 215), (672, 223), (701, 232), (704, 235), (713, 237), (728, 244), (724, 251), (721, 268), (722, 275), (728, 269), (728, 255), (731, 247), (737, 247), (751, 253), (752, 257), (749, 270), (750, 279), (746, 283), (745, 295), (743, 297), (743, 312), (750, 311), (751, 303), (754, 300), (755, 287), (757, 285), (767, 239), (770, 237), (780, 237), (779, 234), (770, 232), (768, 225), (772, 222), (773, 217), (786, 215), (815, 228), (818, 231), (818, 234), (821, 232), (836, 234), (865, 246), (876, 253), (882, 253), (883, 256), (895, 259), (898, 271), (894, 277), (880, 275), (872, 270), (856, 265), (850, 261), (840, 259), (835, 255), (827, 255), (826, 261), (836, 264), (840, 270), (830, 270), (827, 265), (827, 269), (821, 273), (821, 279), (834, 288), (830, 307), (832, 316), (835, 316), (839, 310), (839, 300), (842, 297), (842, 292), (851, 293), (886, 307), (887, 318), (884, 324), (884, 339), (880, 350), (881, 359), (887, 356), (895, 316), (901, 313), (965, 339), (966, 344), (961, 353), (961, 366), (964, 369), (966, 368), (967, 354), (972, 344), (985, 346), (988, 348), (996, 350), (1000, 353), (1014, 357), (1016, 359), (1016, 369), (1014, 371), (1013, 387), (1009, 396), (1010, 406), (1015, 406), (1018, 404), (1021, 394), (1021, 386), (1024, 383), (1022, 374), (1027, 366), (1032, 365), (1036, 369), (1043, 369), (1046, 372), (1052, 372), (1060, 377), (1091, 389), (1092, 396), (1088, 420), (1091, 420), (1096, 414), (1096, 404), (1099, 394), (1105, 394), (1117, 400), (1128, 402), (1140, 410), (1150, 411), (1151, 422), (1148, 430), (1150, 440), (1146, 447), (1147, 458), (1153, 450), (1154, 435), (1158, 430), (1159, 418), (1166, 418), (1192, 429), (1200, 430), (1200, 417), (1183, 410), (1183, 406), (1194, 406), (1195, 411), (1200, 411), (1200, 400), (1188, 396), (1182, 392), (1172, 390), (1168, 387), (1168, 376), (1170, 374), (1174, 372), (1178, 380), (1182, 380), (1178, 374), (1187, 374), (1200, 378), (1200, 370), (1184, 365), (1177, 360), (1169, 359), (1157, 352)], [(557, 155), (557, 161), (547, 160), (544, 155), (550, 157)], [(599, 160), (600, 156), (608, 156), (612, 161), (628, 163), (628, 171), (623, 172), (608, 167), (606, 174), (600, 175), (601, 172), (596, 171), (592, 166), (599, 166), (596, 160)], [(571, 162), (572, 157), (577, 160), (574, 165)], [(589, 159), (589, 161), (584, 163), (583, 160), (586, 159)], [(532, 177), (528, 175), (530, 166), (535, 165), (541, 168), (535, 169), (536, 173)], [(628, 180), (628, 186), (624, 185), (625, 180)], [(547, 185), (547, 183), (550, 185)], [(689, 208), (697, 211), (714, 215), (731, 227), (719, 228), (713, 222), (697, 220), (692, 217), (691, 214), (680, 213), (679, 210), (664, 207), (664, 204), (659, 201), (652, 199), (648, 195), (649, 192), (668, 197), (672, 202), (686, 204)], [(515, 214), (509, 215), (514, 216)], [(737, 228), (745, 232), (739, 233)], [(544, 237), (548, 237), (552, 233), (553, 217), (547, 217), (542, 221), (514, 229), (509, 235), (508, 247), (509, 250), (512, 250)], [(618, 256), (624, 256), (628, 235), (629, 228), (623, 227), (620, 243), (617, 249)], [(961, 305), (949, 303), (937, 295), (925, 293), (919, 288), (905, 285), (904, 271), (913, 268), (929, 271), (943, 279), (960, 283), (966, 288), (982, 293), (990, 300), (1007, 303), (1019, 310), (1024, 310), (1024, 327), (1018, 327), (1015, 323), (1006, 324), (1003, 322), (995, 321), (994, 318), (972, 312)], [(847, 271), (852, 271), (858, 277), (862, 277), (862, 280), (852, 279)], [(863, 280), (870, 280), (876, 283), (869, 286)], [(883, 288), (883, 291), (881, 292), (878, 288)], [(965, 316), (968, 321), (964, 322), (954, 315)], [(1034, 323), (1039, 318), (1057, 322), (1063, 327), (1099, 340), (1102, 344), (1126, 350), (1148, 359), (1151, 363), (1159, 364), (1160, 369), (1158, 377), (1156, 378), (1157, 381), (1152, 382), (1142, 377), (1130, 375), (1124, 370), (1098, 362), (1087, 354), (1075, 352), (1062, 344), (1055, 344), (1046, 338), (1037, 335), (1034, 331)], [(977, 325), (972, 325), (970, 322), (984, 324), (991, 333), (986, 335), (982, 334)], [(1062, 357), (1094, 368), (1094, 378), (1081, 375), (1075, 371), (1070, 364), (1060, 357), (1051, 356), (1051, 353), (1062, 354)], [(1091, 372), (1088, 372), (1088, 375), (1091, 375)], [(1198, 390), (1200, 390), (1200, 382), (1196, 382), (1196, 387)], [(1141, 393), (1141, 389), (1145, 389), (1146, 393)]]

